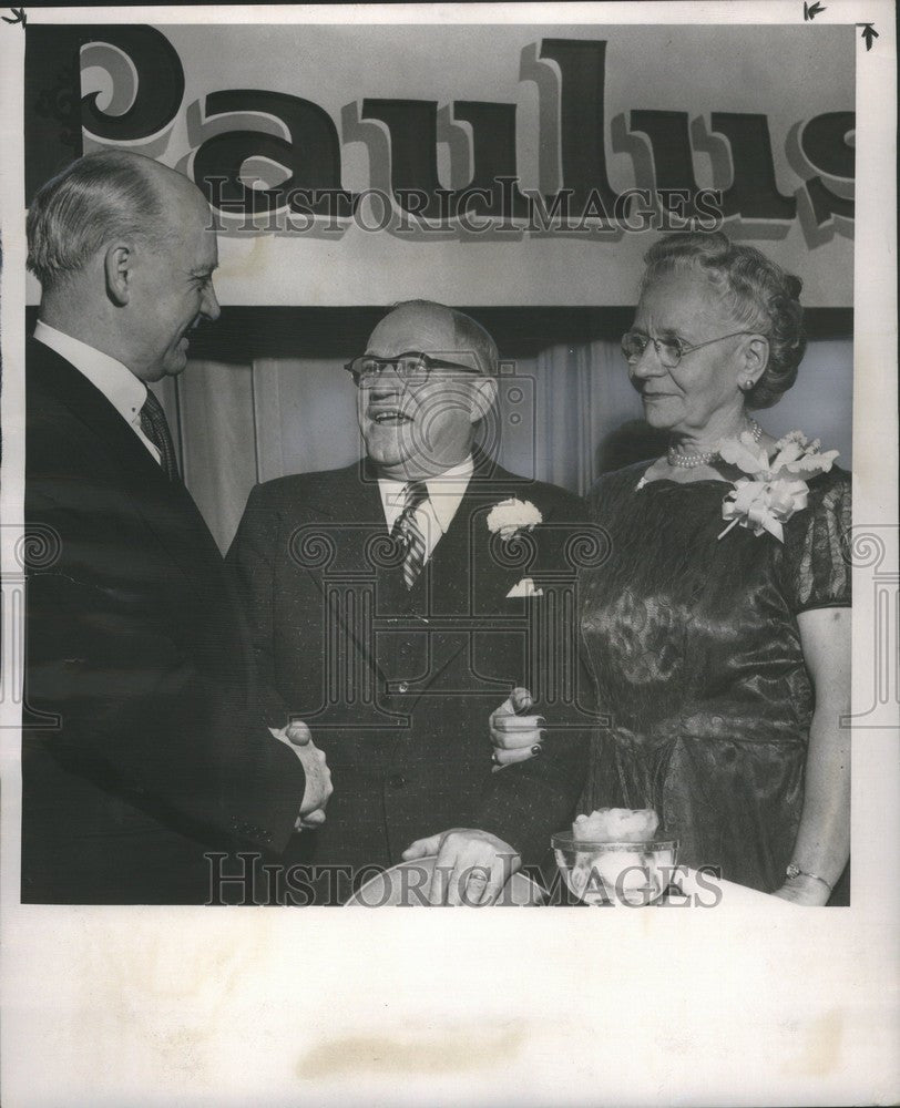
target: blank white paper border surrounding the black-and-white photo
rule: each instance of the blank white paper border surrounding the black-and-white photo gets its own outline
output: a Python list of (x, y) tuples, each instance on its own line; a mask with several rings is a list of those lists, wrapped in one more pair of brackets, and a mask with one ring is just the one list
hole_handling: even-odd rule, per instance
[[(801, 0), (25, 11), (32, 23), (802, 22)], [(857, 45), (853, 514), (857, 527), (883, 529), (896, 567), (894, 10), (828, 0), (816, 22), (871, 22), (879, 35), (870, 51)], [(23, 484), (23, 39), (0, 28), (4, 593)], [(857, 568), (853, 584), (860, 711), (871, 570)], [(4, 687), (12, 679), (4, 673)], [(18, 735), (14, 705), (0, 705), (3, 1102), (893, 1102), (896, 711), (855, 732), (851, 907), (796, 909), (791, 920), (727, 903), (600, 916), (20, 905)]]

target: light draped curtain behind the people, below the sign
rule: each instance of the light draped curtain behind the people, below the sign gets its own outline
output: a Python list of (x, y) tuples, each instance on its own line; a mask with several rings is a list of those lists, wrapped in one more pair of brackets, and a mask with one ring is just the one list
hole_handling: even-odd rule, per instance
[[(638, 422), (640, 400), (615, 342), (549, 346), (504, 362), (499, 384), (485, 445), (515, 473), (583, 494), (604, 469), (651, 456), (658, 447)], [(257, 482), (359, 456), (356, 389), (337, 359), (192, 361), (157, 393), (187, 486), (223, 551)], [(852, 343), (828, 340), (810, 342), (798, 383), (759, 418), (774, 434), (799, 427), (820, 437), (849, 469), (851, 411)], [(623, 429), (634, 434), (613, 451)]]

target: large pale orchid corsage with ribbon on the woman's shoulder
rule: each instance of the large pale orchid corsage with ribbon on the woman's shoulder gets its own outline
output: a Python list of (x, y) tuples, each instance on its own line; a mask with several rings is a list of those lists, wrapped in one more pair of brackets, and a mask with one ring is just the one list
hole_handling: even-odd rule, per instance
[(755, 535), (768, 532), (783, 543), (784, 524), (806, 507), (807, 481), (827, 473), (838, 456), (837, 450), (820, 453), (820, 445), (818, 439), (810, 442), (802, 431), (790, 431), (776, 442), (769, 460), (766, 448), (754, 442), (747, 431), (739, 439), (725, 439), (719, 444), (719, 456), (748, 475), (734, 482), (722, 503), (722, 517), (728, 526), (718, 537), (739, 524)]

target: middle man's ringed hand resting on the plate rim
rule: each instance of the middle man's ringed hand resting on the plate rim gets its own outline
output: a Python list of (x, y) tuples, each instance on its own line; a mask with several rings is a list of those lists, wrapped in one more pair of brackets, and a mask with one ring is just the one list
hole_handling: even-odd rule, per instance
[(417, 839), (403, 851), (403, 861), (437, 854), (429, 904), (493, 904), (517, 870), (521, 856), (502, 839), (487, 831), (452, 828), (428, 839)]

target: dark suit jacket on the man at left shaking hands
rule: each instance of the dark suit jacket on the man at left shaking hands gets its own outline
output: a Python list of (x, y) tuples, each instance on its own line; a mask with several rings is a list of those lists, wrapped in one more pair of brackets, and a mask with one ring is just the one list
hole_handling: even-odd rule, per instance
[(284, 848), (303, 768), (263, 726), (184, 485), (33, 339), (27, 392), (25, 524), (45, 548), (28, 566), (22, 900), (203, 903), (205, 850)]

